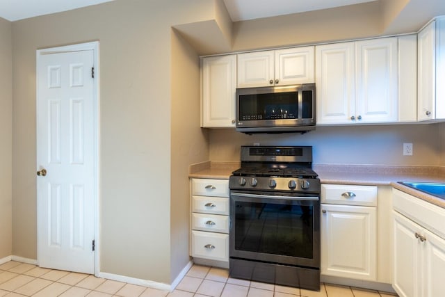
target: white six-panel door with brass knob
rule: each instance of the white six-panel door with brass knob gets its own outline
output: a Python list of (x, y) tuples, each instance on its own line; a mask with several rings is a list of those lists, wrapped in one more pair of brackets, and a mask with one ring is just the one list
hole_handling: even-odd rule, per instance
[(37, 56), (38, 263), (82, 273), (95, 268), (94, 56)]

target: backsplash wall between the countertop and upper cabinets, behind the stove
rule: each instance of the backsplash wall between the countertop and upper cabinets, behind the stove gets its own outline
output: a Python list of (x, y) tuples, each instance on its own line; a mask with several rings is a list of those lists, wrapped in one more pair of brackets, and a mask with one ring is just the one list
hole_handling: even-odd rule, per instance
[[(241, 145), (312, 145), (314, 163), (439, 166), (444, 152), (444, 124), (317, 127), (307, 134), (245, 135), (234, 129), (210, 131), (210, 159), (238, 161)], [(441, 143), (442, 138), (442, 143)], [(413, 155), (403, 156), (403, 143)]]

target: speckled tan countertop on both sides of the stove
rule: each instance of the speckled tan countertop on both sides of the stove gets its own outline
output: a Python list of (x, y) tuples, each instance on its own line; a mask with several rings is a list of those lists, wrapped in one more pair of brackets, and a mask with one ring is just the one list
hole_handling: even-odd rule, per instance
[[(189, 167), (188, 177), (229, 179), (232, 172), (240, 165), (240, 162), (197, 163)], [(313, 164), (312, 168), (318, 174), (322, 184), (392, 186), (445, 208), (445, 200), (398, 184), (398, 182), (445, 182), (445, 167)]]

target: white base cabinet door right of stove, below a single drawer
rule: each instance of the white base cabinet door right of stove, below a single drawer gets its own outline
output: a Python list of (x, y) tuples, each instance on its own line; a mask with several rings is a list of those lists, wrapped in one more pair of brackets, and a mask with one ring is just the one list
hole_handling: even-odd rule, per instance
[(375, 281), (375, 207), (321, 204), (321, 209), (321, 273)]

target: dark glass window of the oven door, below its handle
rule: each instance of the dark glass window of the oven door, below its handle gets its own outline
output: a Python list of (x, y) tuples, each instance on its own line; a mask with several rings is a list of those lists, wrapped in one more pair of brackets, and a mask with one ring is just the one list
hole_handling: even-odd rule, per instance
[(301, 203), (235, 201), (235, 250), (312, 259), (314, 207)]

